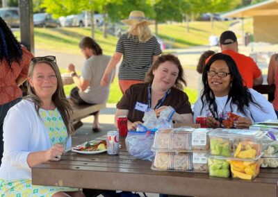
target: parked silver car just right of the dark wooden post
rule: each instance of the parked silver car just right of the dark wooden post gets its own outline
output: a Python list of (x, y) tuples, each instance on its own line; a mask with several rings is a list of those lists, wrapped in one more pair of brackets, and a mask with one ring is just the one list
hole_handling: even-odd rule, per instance
[(58, 27), (60, 22), (58, 19), (52, 18), (51, 14), (48, 13), (38, 13), (33, 15), (34, 26), (39, 27)]

